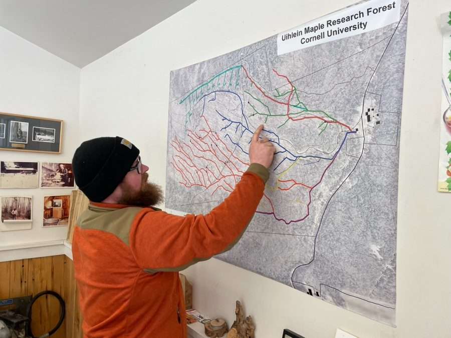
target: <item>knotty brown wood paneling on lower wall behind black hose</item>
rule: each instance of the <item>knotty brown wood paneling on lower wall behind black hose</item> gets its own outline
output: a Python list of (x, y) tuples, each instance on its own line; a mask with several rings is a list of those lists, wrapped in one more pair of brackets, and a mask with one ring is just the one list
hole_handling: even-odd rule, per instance
[[(36, 295), (44, 290), (58, 292), (66, 302), (66, 318), (52, 337), (81, 338), (82, 318), (74, 264), (65, 255), (0, 262), (0, 299)], [(35, 336), (51, 330), (60, 317), (60, 303), (54, 296), (42, 296), (33, 305)]]

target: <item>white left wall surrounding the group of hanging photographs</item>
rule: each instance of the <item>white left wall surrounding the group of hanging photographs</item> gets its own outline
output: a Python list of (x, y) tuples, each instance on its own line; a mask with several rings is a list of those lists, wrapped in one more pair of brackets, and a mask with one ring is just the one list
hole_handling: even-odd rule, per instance
[[(61, 154), (2, 150), (0, 160), (71, 162), (79, 143), (81, 70), (2, 27), (0, 46), (0, 112), (64, 120)], [(33, 224), (31, 230), (1, 231), (0, 246), (66, 238), (67, 227), (42, 228), (43, 206), (44, 196), (70, 192), (70, 189), (2, 189), (2, 196), (33, 196)]]

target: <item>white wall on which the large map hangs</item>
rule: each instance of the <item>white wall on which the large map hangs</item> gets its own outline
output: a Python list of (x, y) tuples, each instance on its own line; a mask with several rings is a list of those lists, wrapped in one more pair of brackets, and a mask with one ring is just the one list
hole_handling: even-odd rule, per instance
[[(198, 0), (82, 70), (82, 140), (121, 135), (135, 143), (164, 186), (169, 71), (222, 55), (328, 14), (354, 0)], [(232, 323), (245, 304), (259, 338), (284, 327), (308, 338), (341, 327), (359, 337), (451, 336), (451, 194), (436, 192), (441, 35), (449, 0), (412, 0), (409, 10), (399, 168), (397, 328), (211, 259), (185, 271), (194, 306)]]

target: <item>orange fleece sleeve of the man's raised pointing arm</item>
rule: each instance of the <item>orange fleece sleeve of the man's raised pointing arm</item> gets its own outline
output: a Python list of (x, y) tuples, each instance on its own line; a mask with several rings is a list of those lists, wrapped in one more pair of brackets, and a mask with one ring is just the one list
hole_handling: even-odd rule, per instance
[(176, 216), (149, 209), (140, 212), (129, 237), (138, 265), (156, 271), (182, 270), (237, 241), (257, 210), (269, 175), (267, 170), (266, 177), (250, 170), (234, 191), (206, 215)]

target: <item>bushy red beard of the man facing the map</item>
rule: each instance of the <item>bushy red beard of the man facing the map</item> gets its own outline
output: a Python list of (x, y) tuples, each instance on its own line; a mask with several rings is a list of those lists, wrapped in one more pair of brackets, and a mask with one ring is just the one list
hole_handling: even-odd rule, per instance
[(163, 202), (163, 191), (155, 183), (147, 182), (149, 174), (142, 174), (141, 189), (138, 192), (131, 192), (129, 186), (124, 184), (124, 195), (119, 200), (119, 204), (136, 205), (149, 207)]

